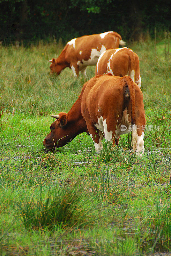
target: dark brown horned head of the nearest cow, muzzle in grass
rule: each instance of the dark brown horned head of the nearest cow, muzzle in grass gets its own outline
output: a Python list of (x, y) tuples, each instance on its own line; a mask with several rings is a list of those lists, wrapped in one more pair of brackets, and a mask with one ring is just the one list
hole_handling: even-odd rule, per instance
[(73, 136), (74, 127), (73, 129), (71, 128), (66, 113), (62, 112), (52, 117), (56, 118), (56, 120), (50, 125), (51, 131), (43, 140), (43, 145), (50, 151), (65, 146), (75, 137)]

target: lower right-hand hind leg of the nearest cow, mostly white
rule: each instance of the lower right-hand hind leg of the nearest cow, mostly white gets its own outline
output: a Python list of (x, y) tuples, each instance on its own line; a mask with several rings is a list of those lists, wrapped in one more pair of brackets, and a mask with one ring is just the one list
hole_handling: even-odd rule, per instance
[(144, 154), (144, 129), (142, 127), (145, 125), (134, 124), (132, 126), (132, 141), (131, 146), (137, 156), (143, 156)]

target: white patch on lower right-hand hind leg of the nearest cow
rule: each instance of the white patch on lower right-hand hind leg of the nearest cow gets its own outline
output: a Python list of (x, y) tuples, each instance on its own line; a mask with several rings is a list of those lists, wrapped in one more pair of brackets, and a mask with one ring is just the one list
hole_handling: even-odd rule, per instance
[(141, 136), (138, 136), (137, 126), (135, 124), (132, 126), (131, 146), (137, 156), (141, 157), (144, 154), (144, 132), (142, 132)]

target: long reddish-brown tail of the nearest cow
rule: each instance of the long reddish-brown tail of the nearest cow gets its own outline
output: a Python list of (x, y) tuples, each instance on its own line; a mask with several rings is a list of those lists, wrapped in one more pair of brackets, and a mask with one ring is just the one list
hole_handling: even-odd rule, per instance
[[(131, 125), (135, 124), (135, 86), (130, 76), (123, 76), (124, 100), (126, 105), (131, 105)], [(126, 106), (125, 106), (126, 107)]]

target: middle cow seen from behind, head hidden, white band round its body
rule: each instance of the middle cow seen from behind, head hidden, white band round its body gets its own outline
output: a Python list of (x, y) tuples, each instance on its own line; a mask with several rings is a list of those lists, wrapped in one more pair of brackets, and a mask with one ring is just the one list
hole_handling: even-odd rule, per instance
[(129, 75), (141, 87), (139, 58), (137, 53), (127, 47), (109, 49), (103, 52), (97, 62), (95, 75), (111, 73), (114, 76)]

